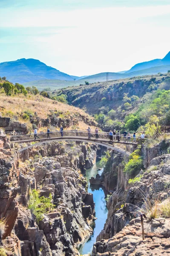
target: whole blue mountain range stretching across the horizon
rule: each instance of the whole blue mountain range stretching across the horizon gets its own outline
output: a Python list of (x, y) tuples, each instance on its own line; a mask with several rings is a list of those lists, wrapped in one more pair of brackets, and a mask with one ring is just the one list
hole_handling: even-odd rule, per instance
[[(163, 59), (154, 59), (135, 64), (130, 70), (117, 73), (109, 72), (109, 80), (124, 79), (134, 76), (155, 75), (159, 72), (167, 73), (170, 70), (170, 52)], [(106, 81), (106, 72), (92, 76), (70, 76), (49, 67), (43, 62), (35, 59), (22, 58), (17, 61), (0, 63), (0, 76), (6, 76), (13, 83), (24, 85), (34, 84), (39, 88), (52, 87), (63, 88), (66, 86)]]

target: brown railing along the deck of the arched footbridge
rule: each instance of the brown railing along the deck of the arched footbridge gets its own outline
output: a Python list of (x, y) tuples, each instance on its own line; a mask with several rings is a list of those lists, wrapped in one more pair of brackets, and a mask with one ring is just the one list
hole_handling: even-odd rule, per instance
[(51, 131), (47, 132), (39, 132), (37, 134), (24, 134), (24, 135), (15, 135), (10, 137), (11, 142), (15, 143), (24, 143), (31, 141), (40, 141), (40, 140), (52, 140), (58, 138), (72, 138), (73, 140), (76, 138), (86, 139), (86, 140), (99, 140), (104, 142), (115, 142), (115, 143), (126, 143), (126, 144), (138, 144), (140, 138), (139, 137), (127, 137), (123, 134), (118, 135), (109, 135), (107, 132), (98, 132), (91, 131), (90, 133), (86, 130), (64, 130), (64, 131)]

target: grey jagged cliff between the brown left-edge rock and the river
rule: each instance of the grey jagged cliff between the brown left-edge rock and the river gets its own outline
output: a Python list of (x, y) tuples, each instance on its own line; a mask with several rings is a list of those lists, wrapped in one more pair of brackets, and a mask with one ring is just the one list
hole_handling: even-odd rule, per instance
[[(76, 247), (92, 234), (94, 219), (92, 194), (86, 192), (86, 180), (78, 168), (85, 169), (86, 159), (93, 165), (95, 145), (46, 143), (22, 151), (18, 177), (18, 216), (14, 230), (20, 239), (21, 255), (74, 256)], [(27, 209), (31, 189), (40, 196), (52, 195), (55, 208), (36, 222)], [(26, 254), (27, 253), (27, 254)]]

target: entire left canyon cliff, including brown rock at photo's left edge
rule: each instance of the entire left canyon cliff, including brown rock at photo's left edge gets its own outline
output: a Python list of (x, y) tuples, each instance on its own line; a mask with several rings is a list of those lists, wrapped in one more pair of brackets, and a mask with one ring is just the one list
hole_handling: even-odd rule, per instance
[[(14, 148), (8, 149), (11, 156), (2, 152), (0, 218), (7, 228), (0, 223), (0, 245), (8, 255), (79, 255), (76, 247), (92, 234), (95, 215), (81, 170), (95, 163), (96, 150), (96, 145), (46, 143), (20, 155)], [(32, 191), (53, 204), (38, 220), (29, 207)]]

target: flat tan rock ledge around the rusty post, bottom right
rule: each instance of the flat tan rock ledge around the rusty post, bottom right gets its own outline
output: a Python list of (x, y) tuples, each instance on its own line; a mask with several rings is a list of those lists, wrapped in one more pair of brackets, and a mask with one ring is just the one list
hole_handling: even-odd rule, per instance
[(96, 242), (92, 256), (169, 255), (170, 219), (144, 220), (145, 239), (142, 240), (141, 221), (135, 218), (108, 240)]

